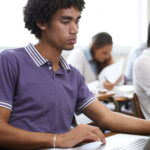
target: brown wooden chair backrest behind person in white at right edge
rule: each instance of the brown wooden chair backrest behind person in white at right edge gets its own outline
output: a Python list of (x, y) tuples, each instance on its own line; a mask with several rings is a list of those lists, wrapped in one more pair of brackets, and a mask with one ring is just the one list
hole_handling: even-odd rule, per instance
[(134, 93), (134, 96), (133, 96), (133, 106), (134, 106), (135, 116), (139, 117), (139, 118), (142, 118), (142, 119), (145, 119), (145, 117), (144, 117), (144, 115), (141, 111), (141, 108), (140, 108), (140, 105), (139, 105), (139, 100), (138, 100), (138, 97), (137, 97), (136, 93)]

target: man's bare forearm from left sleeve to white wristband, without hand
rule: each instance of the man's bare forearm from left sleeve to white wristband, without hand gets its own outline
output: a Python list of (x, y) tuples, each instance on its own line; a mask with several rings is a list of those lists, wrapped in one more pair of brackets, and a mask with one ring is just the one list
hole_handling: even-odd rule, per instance
[(53, 134), (29, 132), (9, 125), (10, 110), (0, 107), (0, 147), (38, 149), (53, 147)]

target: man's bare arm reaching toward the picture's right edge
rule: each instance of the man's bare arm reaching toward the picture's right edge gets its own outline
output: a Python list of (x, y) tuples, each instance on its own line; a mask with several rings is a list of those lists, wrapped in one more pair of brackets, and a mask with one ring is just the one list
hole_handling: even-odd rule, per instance
[(150, 121), (113, 112), (98, 100), (87, 106), (83, 113), (111, 131), (150, 134)]

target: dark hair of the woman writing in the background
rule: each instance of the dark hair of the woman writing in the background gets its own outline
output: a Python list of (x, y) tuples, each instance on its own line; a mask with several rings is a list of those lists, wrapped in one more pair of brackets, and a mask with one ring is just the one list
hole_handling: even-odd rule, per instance
[(97, 66), (97, 74), (99, 74), (104, 67), (108, 66), (111, 63), (112, 57), (110, 56), (109, 59), (101, 63), (94, 58), (95, 51), (99, 48), (112, 44), (112, 37), (107, 32), (101, 32), (93, 36), (92, 42), (90, 44), (90, 52), (93, 57), (93, 61)]

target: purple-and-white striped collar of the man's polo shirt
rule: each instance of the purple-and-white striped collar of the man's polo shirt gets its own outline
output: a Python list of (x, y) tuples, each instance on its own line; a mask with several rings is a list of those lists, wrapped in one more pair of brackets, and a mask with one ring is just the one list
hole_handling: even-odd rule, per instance
[[(31, 57), (31, 59), (35, 62), (35, 64), (40, 67), (42, 65), (44, 65), (45, 63), (48, 62), (47, 59), (45, 59), (39, 52), (38, 50), (34, 47), (34, 45), (32, 45), (31, 43), (29, 43), (26, 47), (25, 50), (27, 51), (27, 53), (29, 54), (29, 56)], [(70, 66), (67, 64), (66, 60), (61, 56), (60, 57), (60, 64), (61, 66), (70, 71), (71, 68)]]

